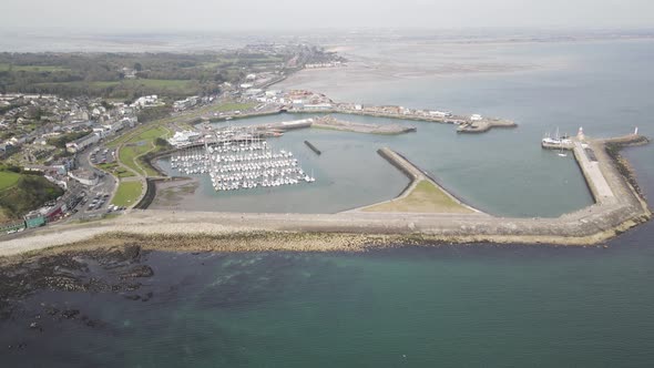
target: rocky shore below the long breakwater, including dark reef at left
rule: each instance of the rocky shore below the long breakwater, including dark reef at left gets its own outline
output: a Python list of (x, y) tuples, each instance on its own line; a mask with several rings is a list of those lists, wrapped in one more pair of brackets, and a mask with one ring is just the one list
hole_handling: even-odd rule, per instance
[[(78, 324), (85, 328), (105, 328), (106, 324), (90, 316), (82, 307), (42, 301), (41, 293), (111, 294), (134, 303), (146, 303), (153, 297), (153, 293), (146, 287), (147, 279), (156, 274), (155, 268), (149, 264), (147, 255), (154, 251), (188, 254), (347, 253), (453, 244), (548, 244), (545, 237), (537, 241), (528, 236), (495, 236), (489, 242), (484, 236), (443, 237), (419, 233), (375, 235), (234, 228), (214, 233), (162, 233), (152, 228), (149, 233), (146, 227), (141, 227), (141, 231), (106, 232), (71, 244), (0, 257), (0, 277), (3, 280), (0, 283), (0, 324), (11, 321), (33, 330), (34, 334), (58, 328), (61, 323)], [(596, 242), (587, 242), (589, 245), (593, 243)], [(24, 309), (27, 305), (31, 309)], [(14, 341), (8, 348), (20, 350), (27, 344), (28, 341)]]

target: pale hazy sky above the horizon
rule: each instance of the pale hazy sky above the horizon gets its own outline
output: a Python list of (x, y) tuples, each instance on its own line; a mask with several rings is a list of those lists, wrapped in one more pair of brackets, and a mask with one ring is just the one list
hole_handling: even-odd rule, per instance
[(654, 28), (654, 0), (1, 0), (0, 25), (99, 31)]

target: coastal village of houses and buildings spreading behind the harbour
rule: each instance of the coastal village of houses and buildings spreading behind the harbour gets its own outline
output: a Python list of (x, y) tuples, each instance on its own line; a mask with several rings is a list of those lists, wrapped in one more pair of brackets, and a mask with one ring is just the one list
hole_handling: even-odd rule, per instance
[[(0, 187), (3, 192), (0, 198), (7, 202), (2, 203), (0, 212), (0, 234), (55, 223), (78, 212), (82, 213), (78, 218), (101, 218), (134, 205), (132, 200), (127, 200), (131, 205), (112, 203), (116, 192), (117, 196), (122, 193), (120, 184), (134, 180), (139, 173), (134, 172), (135, 167), (123, 164), (119, 157), (120, 149), (106, 149), (104, 144), (139, 130), (151, 120), (198, 116), (198, 111), (203, 109), (217, 108), (232, 114), (238, 114), (241, 110), (249, 113), (266, 109), (265, 103), (257, 102), (266, 95), (264, 89), (283, 81), (288, 73), (303, 68), (345, 64), (343, 58), (305, 44), (249, 44), (236, 50), (235, 55), (256, 59), (244, 63), (239, 75), (224, 81), (218, 92), (183, 99), (167, 93), (140, 95), (126, 101), (88, 95), (64, 98), (48, 93), (0, 93), (0, 174), (3, 176), (1, 182), (7, 183)], [(280, 55), (289, 57), (282, 59)], [(232, 54), (226, 57), (232, 58)], [(221, 67), (231, 68), (231, 64), (233, 62)], [(17, 68), (39, 70), (39, 67)], [(117, 69), (121, 78), (134, 82), (146, 82), (142, 78), (149, 72), (139, 63), (133, 68)], [(159, 113), (161, 111), (164, 113)], [(156, 117), (150, 116), (153, 113), (157, 113)], [(185, 121), (183, 126), (193, 126), (193, 119)], [(178, 121), (172, 122), (168, 125), (171, 131), (178, 127), (175, 125)], [(32, 192), (48, 191), (50, 194), (21, 191), (18, 186), (27, 185), (27, 178), (39, 182), (34, 185), (41, 190), (32, 188)], [(127, 184), (139, 183), (125, 183), (125, 186)], [(29, 203), (17, 203), (25, 197)], [(34, 207), (39, 201), (41, 206)], [(27, 208), (30, 211), (27, 212)]]

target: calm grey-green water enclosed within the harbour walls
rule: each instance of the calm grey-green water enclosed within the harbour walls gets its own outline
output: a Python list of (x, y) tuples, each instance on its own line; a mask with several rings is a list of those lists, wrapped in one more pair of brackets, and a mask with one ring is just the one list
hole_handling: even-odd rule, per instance
[[(248, 125), (292, 121), (313, 115), (279, 114), (214, 125)], [(513, 130), (483, 135), (457, 134), (454, 126), (436, 123), (336, 114), (340, 120), (417, 126), (417, 133), (372, 135), (318, 129), (289, 131), (268, 142), (290, 150), (316, 182), (283, 188), (215, 192), (206, 175), (194, 197), (180, 208), (226, 212), (335, 213), (397, 196), (408, 178), (377, 154), (389, 146), (410, 159), (450, 192), (481, 211), (507, 216), (558, 216), (592, 203), (574, 160), (540, 149), (539, 141), (520, 144), (519, 160), (507, 155)], [(307, 140), (321, 152), (316, 155)], [(512, 151), (512, 150), (511, 150)], [(509, 152), (509, 154), (518, 154)], [(510, 162), (510, 164), (508, 164)], [(166, 159), (159, 162), (171, 175)], [(539, 168), (540, 167), (540, 168)], [(511, 191), (505, 188), (510, 187)], [(157, 207), (156, 204), (154, 206)]]

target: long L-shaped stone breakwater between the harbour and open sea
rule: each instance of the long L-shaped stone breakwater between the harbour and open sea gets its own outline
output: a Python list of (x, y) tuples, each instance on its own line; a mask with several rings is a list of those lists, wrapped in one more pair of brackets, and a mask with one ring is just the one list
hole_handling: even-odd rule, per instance
[[(634, 136), (631, 140), (637, 139)], [(629, 142), (625, 140), (622, 144)], [(111, 221), (52, 226), (2, 242), (0, 256), (70, 243), (100, 245), (102, 238), (115, 236), (125, 239), (151, 237), (154, 247), (164, 238), (166, 244), (172, 244), (171, 247), (175, 242), (196, 242), (202, 247), (205, 239), (213, 239), (222, 245), (211, 248), (238, 252), (357, 251), (388, 244), (435, 242), (594, 245), (648, 221), (652, 214), (606, 153), (605, 142), (592, 141), (590, 146), (596, 159), (593, 165), (596, 164), (613, 195), (558, 218), (508, 218), (482, 213), (347, 212), (306, 215), (133, 209)], [(580, 154), (586, 154), (586, 151)], [(586, 180), (593, 181), (593, 175), (586, 175)], [(98, 236), (100, 238), (94, 241)]]

